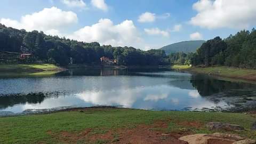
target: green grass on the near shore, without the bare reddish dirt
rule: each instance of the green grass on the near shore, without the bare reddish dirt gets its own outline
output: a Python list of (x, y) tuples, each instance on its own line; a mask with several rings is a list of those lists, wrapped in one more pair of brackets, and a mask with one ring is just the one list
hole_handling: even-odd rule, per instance
[[(234, 133), (256, 139), (256, 132), (250, 130), (255, 118), (245, 114), (94, 108), (87, 109), (84, 113), (65, 111), (45, 115), (0, 118), (0, 143), (61, 143), (52, 135), (58, 135), (61, 132), (78, 134), (86, 129), (93, 129), (92, 134), (105, 133), (108, 130), (119, 128), (132, 129), (139, 124), (152, 124), (154, 121), (165, 119), (171, 119), (166, 120), (169, 123), (169, 127), (163, 129), (166, 132), (186, 127), (178, 125), (178, 122), (196, 121), (204, 125), (207, 122), (218, 121), (242, 125), (246, 131)], [(204, 126), (200, 129), (189, 128), (195, 133), (212, 133)], [(118, 140), (118, 135), (115, 139)], [(104, 141), (98, 141), (98, 143), (102, 142), (104, 143)]]

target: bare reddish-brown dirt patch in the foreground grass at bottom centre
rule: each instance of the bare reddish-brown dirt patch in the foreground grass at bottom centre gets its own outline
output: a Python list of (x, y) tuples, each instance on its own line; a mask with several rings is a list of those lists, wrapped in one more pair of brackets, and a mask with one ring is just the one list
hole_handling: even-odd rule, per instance
[(51, 131), (47, 132), (62, 143), (177, 143), (186, 144), (179, 140), (182, 133), (164, 133), (163, 129), (168, 127), (169, 120), (157, 121), (154, 124), (141, 124), (134, 129), (115, 129), (105, 133), (94, 133), (92, 129), (87, 129), (80, 133), (61, 132), (58, 135)]

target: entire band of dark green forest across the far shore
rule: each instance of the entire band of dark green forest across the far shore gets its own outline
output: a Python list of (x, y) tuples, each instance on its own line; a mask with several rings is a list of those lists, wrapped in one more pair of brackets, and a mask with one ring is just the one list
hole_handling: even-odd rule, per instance
[(68, 65), (70, 58), (75, 64), (97, 65), (101, 57), (116, 59), (118, 65), (157, 66), (230, 66), (256, 68), (256, 30), (242, 30), (226, 39), (215, 37), (202, 44), (195, 53), (164, 50), (142, 51), (134, 47), (113, 47), (97, 42), (78, 42), (65, 37), (45, 35), (36, 30), (27, 32), (0, 24), (0, 52), (30, 52), (37, 61)]

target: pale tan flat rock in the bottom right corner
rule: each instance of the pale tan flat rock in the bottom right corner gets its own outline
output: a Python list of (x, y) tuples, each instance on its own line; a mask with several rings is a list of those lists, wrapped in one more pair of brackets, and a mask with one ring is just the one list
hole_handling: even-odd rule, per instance
[(188, 144), (253, 144), (255, 140), (245, 139), (235, 134), (213, 133), (213, 134), (192, 134), (181, 137), (180, 140)]

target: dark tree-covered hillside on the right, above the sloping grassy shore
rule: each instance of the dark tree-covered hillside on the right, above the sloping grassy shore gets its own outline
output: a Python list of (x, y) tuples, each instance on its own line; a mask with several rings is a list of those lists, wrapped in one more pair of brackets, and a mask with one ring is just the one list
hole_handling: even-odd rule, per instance
[(256, 68), (256, 30), (242, 30), (226, 39), (215, 37), (204, 43), (191, 59), (193, 65), (224, 65)]

